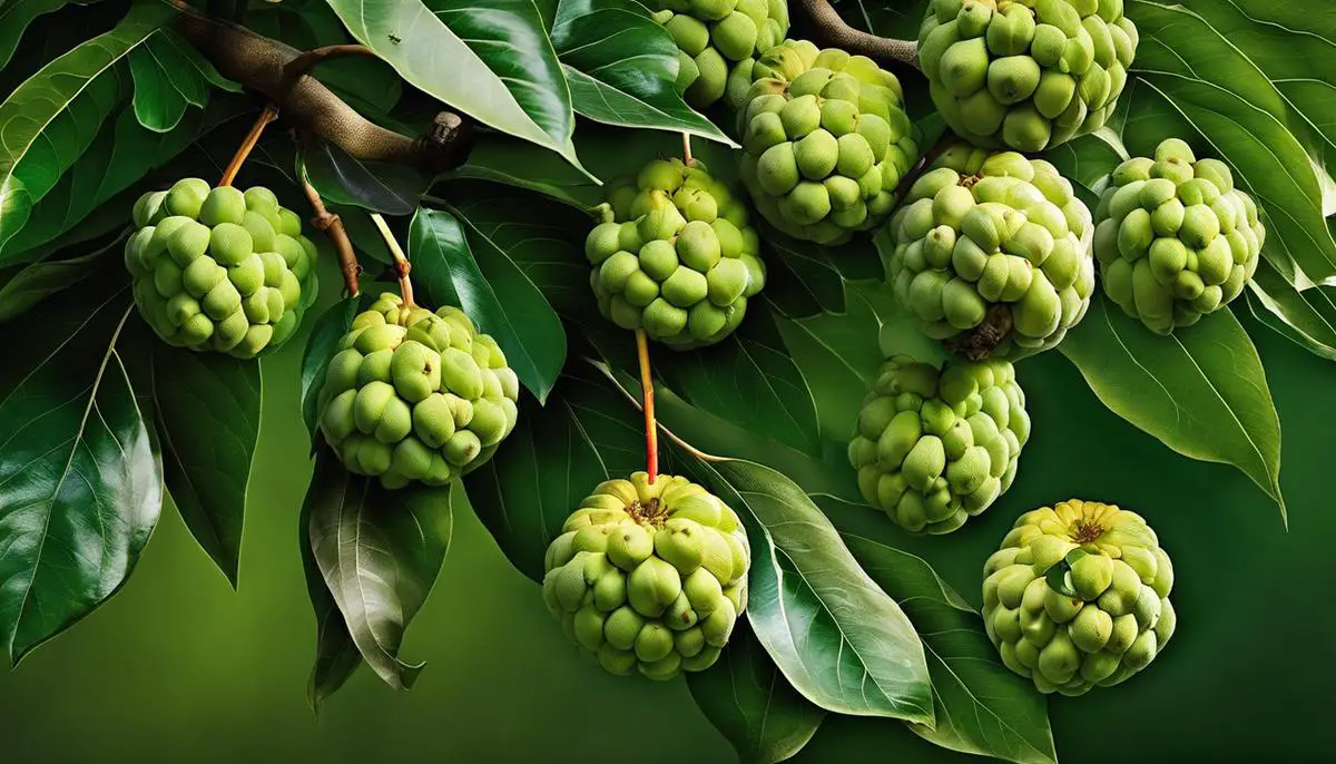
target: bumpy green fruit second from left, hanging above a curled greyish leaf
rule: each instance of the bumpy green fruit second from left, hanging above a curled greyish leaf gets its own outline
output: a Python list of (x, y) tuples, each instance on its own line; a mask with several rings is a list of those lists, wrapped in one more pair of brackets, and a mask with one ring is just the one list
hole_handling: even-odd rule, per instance
[(440, 486), (492, 458), (518, 394), (505, 354), (462, 310), (382, 294), (339, 341), (317, 410), (349, 471), (387, 489)]

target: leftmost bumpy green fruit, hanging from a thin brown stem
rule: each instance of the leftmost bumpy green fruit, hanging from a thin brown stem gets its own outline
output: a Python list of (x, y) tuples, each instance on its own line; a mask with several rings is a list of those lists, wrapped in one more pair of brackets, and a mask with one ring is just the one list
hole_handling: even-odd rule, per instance
[(135, 202), (126, 242), (135, 305), (170, 345), (254, 358), (315, 301), (315, 244), (267, 188), (186, 178)]

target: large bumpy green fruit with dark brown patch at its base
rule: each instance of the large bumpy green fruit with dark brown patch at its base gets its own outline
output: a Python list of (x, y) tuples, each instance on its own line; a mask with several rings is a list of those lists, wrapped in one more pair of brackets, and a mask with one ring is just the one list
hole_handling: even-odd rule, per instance
[(973, 359), (1023, 358), (1085, 317), (1093, 231), (1047, 162), (955, 146), (891, 218), (887, 275), (929, 337)]

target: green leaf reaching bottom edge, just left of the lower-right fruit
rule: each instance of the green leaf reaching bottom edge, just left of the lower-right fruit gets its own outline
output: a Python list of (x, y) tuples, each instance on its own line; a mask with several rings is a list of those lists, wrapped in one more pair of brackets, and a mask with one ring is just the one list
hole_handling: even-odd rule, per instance
[[(820, 504), (836, 525), (840, 513), (867, 514), (866, 506), (831, 498)], [(923, 640), (937, 728), (910, 724), (910, 729), (953, 751), (1018, 764), (1055, 763), (1047, 701), (1034, 684), (1002, 664), (969, 602), (921, 557), (863, 536), (842, 536)]]

